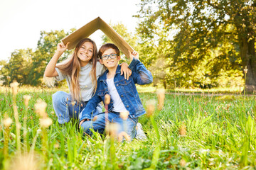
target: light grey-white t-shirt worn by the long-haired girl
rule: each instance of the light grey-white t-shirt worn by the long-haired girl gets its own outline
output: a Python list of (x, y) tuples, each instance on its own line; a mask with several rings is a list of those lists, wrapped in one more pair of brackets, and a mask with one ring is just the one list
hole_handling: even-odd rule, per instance
[[(70, 83), (71, 78), (68, 75), (63, 74), (60, 72), (58, 68), (55, 68), (58, 72), (58, 77), (55, 77), (57, 81), (61, 81), (63, 79), (66, 79), (68, 83), (68, 89), (70, 89)], [(95, 84), (92, 84), (92, 79), (90, 76), (90, 71), (92, 69), (92, 64), (88, 63), (86, 66), (81, 67), (80, 69), (80, 75), (79, 75), (79, 86), (80, 86), (80, 93), (81, 93), (81, 99), (82, 101), (89, 101), (90, 98), (92, 98), (92, 95), (94, 93)], [(96, 77), (97, 79), (100, 77), (100, 75), (105, 72), (105, 67), (100, 64), (100, 62), (97, 62), (96, 64)]]

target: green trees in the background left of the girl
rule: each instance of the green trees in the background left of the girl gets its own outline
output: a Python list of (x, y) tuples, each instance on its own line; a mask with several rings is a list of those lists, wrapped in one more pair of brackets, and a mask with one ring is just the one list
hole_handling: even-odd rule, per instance
[[(44, 70), (51, 57), (53, 57), (57, 44), (72, 31), (74, 29), (68, 31), (68, 33), (65, 33), (64, 30), (41, 31), (41, 37), (35, 51), (32, 49), (15, 50), (11, 53), (9, 62), (1, 62), (3, 67), (0, 74), (4, 76), (1, 79), (4, 79), (5, 84), (14, 79), (21, 84), (33, 86), (42, 84)], [(67, 58), (68, 55), (70, 55), (70, 51), (66, 51), (59, 62)]]

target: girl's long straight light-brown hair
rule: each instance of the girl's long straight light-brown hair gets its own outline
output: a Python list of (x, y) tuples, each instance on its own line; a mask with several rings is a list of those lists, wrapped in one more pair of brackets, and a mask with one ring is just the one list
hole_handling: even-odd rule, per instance
[(57, 64), (56, 67), (60, 69), (65, 75), (70, 76), (70, 92), (73, 100), (80, 101), (80, 86), (79, 86), (79, 72), (80, 72), (80, 59), (78, 58), (78, 50), (85, 42), (92, 42), (93, 54), (90, 60), (92, 64), (92, 69), (90, 71), (90, 77), (92, 79), (92, 84), (95, 85), (95, 91), (97, 89), (97, 77), (96, 77), (96, 64), (97, 64), (97, 46), (93, 40), (90, 38), (82, 39), (78, 45), (75, 47), (73, 55), (68, 57), (67, 60)]

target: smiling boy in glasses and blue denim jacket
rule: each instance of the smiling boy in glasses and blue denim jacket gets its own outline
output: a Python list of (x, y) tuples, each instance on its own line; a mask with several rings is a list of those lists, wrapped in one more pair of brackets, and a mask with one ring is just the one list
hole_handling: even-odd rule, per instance
[[(80, 126), (84, 132), (91, 134), (90, 128), (102, 133), (105, 130), (105, 113), (97, 114), (97, 120), (92, 122), (92, 113), (95, 113), (97, 103), (105, 102), (106, 94), (110, 95), (107, 118), (112, 123), (119, 124), (117, 135), (126, 132), (132, 139), (136, 135), (136, 125), (140, 115), (146, 113), (140, 101), (135, 84), (150, 84), (153, 81), (151, 72), (139, 61), (137, 52), (129, 52), (132, 59), (129, 69), (132, 75), (129, 79), (124, 79), (120, 74), (118, 65), (121, 59), (119, 49), (112, 43), (107, 43), (100, 47), (98, 55), (100, 63), (107, 67), (107, 70), (97, 80), (97, 91), (87, 103), (86, 108), (80, 113)], [(127, 120), (122, 120), (119, 113), (128, 111)]]

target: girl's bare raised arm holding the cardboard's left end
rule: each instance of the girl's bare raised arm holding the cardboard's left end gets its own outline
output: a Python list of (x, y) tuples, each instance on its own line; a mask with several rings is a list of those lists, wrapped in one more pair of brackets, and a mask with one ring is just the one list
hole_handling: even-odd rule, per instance
[(63, 54), (63, 52), (65, 52), (65, 50), (68, 49), (68, 44), (69, 44), (69, 42), (66, 45), (64, 45), (63, 42), (58, 43), (57, 50), (56, 50), (55, 54), (53, 55), (50, 62), (46, 66), (46, 70), (44, 73), (44, 75), (46, 77), (57, 77), (58, 76), (58, 72), (56, 71), (55, 67), (56, 67), (56, 64), (57, 64), (60, 56)]

